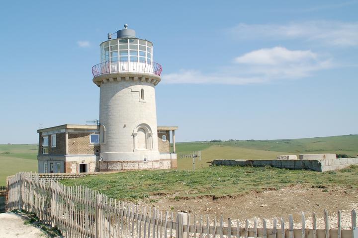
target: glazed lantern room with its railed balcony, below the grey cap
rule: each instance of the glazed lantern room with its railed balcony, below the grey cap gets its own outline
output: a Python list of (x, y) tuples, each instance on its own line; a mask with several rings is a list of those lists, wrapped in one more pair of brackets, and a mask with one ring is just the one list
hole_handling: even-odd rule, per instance
[(92, 67), (93, 77), (112, 73), (161, 75), (162, 66), (153, 62), (153, 44), (137, 38), (117, 38), (100, 45), (101, 63)]

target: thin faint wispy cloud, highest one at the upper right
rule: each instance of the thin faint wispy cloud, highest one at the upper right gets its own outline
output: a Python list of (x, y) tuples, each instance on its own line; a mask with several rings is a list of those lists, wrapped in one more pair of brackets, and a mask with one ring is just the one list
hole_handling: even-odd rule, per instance
[(244, 24), (229, 32), (237, 39), (302, 39), (340, 47), (358, 46), (358, 22), (306, 21), (287, 24)]

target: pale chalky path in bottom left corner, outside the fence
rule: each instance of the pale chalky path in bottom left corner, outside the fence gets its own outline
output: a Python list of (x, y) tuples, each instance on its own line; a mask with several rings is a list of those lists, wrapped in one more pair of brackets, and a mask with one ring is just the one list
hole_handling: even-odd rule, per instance
[(44, 238), (37, 227), (25, 225), (24, 219), (14, 213), (0, 214), (0, 238)]

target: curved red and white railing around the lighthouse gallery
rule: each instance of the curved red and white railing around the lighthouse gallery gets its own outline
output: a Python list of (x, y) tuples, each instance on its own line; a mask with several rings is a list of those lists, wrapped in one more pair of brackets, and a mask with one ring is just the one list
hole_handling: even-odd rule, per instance
[(162, 65), (156, 62), (149, 64), (145, 62), (105, 61), (92, 67), (93, 77), (117, 72), (143, 72), (153, 73), (160, 76), (162, 73)]

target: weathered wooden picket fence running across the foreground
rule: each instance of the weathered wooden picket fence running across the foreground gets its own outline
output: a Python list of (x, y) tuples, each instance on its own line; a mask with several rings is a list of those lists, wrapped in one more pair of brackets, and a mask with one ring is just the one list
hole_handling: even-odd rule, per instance
[(87, 187), (69, 187), (57, 181), (46, 181), (37, 174), (18, 173), (9, 179), (7, 211), (14, 209), (35, 213), (45, 224), (57, 227), (67, 238), (358, 238), (357, 214), (352, 211), (351, 229), (342, 229), (338, 211), (338, 228), (330, 229), (327, 210), (325, 229), (317, 229), (312, 214), (313, 229), (294, 229), (289, 215), (288, 227), (283, 218), (273, 219), (272, 228), (254, 227), (230, 218), (210, 221), (207, 216), (191, 217), (189, 213), (161, 212), (157, 208), (135, 205), (108, 198)]

